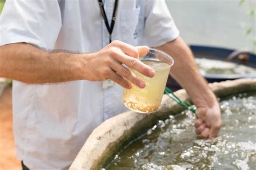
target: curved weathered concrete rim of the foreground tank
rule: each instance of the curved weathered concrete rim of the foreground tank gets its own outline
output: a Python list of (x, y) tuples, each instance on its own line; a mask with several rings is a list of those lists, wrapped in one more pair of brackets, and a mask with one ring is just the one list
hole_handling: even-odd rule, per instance
[[(211, 83), (209, 86), (217, 97), (224, 97), (239, 92), (256, 91), (256, 78), (227, 80)], [(190, 100), (184, 89), (175, 93), (183, 101)], [(154, 113), (142, 114), (127, 111), (105, 120), (87, 138), (70, 169), (100, 169), (111, 157), (113, 158), (118, 149), (120, 150), (122, 143), (127, 143), (132, 139), (132, 135), (137, 136), (136, 133), (139, 132), (136, 130), (141, 131), (156, 120), (182, 110), (184, 109), (181, 106), (164, 95), (159, 110)]]

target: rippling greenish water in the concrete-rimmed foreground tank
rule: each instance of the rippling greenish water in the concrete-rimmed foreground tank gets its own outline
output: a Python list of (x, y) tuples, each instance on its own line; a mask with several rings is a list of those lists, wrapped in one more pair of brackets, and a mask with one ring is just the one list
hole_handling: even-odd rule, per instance
[(194, 132), (194, 116), (159, 120), (126, 146), (106, 169), (253, 169), (256, 167), (256, 93), (220, 101), (223, 126), (213, 142)]

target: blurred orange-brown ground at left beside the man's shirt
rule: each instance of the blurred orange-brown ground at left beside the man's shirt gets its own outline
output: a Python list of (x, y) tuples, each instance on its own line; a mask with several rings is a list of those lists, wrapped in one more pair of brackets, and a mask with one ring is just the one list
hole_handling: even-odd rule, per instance
[(0, 158), (1, 170), (21, 169), (12, 132), (11, 87), (8, 87), (0, 97)]

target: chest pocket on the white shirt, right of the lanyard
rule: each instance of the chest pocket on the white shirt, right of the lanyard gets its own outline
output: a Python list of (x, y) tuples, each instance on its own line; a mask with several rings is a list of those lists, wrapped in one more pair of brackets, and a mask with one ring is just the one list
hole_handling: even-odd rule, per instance
[(120, 12), (122, 41), (134, 46), (138, 45), (139, 12), (139, 6), (135, 9), (124, 9)]

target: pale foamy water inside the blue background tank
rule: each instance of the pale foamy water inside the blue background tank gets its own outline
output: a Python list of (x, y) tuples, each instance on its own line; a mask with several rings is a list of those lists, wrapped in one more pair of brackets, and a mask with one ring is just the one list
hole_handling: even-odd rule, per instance
[(201, 74), (246, 74), (256, 75), (256, 69), (241, 64), (224, 62), (221, 60), (196, 58)]

